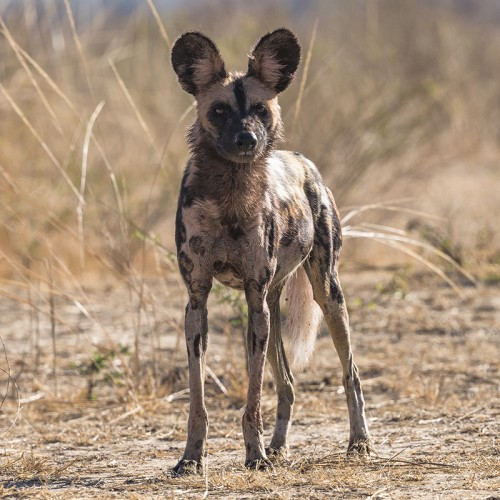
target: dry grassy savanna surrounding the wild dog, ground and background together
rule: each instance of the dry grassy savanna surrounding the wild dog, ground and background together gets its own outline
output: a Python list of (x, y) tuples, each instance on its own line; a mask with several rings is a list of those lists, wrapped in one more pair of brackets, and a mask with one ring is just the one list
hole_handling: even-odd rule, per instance
[[(97, 1), (0, 2), (4, 496), (498, 491), (498, 9), (290, 5), (162, 11), (146, 0), (119, 15)], [(285, 147), (318, 164), (343, 208), (345, 288), (380, 456), (338, 454), (346, 415), (321, 339), (314, 369), (299, 376), (290, 462), (243, 470), (245, 306), (221, 288), (211, 303), (208, 475), (173, 479), (189, 397), (173, 215), (194, 107), (169, 47), (196, 27), (243, 68), (242, 54), (281, 25), (304, 46), (281, 100)], [(423, 259), (461, 297), (420, 278)], [(273, 412), (269, 382), (266, 429)]]

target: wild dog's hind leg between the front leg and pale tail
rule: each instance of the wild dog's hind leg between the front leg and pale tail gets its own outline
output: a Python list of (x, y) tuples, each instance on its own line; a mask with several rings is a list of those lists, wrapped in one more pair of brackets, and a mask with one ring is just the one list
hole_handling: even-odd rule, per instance
[(280, 295), (282, 287), (270, 292), (267, 303), (270, 313), (270, 335), (267, 356), (274, 374), (278, 407), (271, 444), (266, 448), (269, 458), (286, 457), (288, 454), (288, 431), (290, 430), (295, 393), (293, 376), (288, 366), (281, 337)]

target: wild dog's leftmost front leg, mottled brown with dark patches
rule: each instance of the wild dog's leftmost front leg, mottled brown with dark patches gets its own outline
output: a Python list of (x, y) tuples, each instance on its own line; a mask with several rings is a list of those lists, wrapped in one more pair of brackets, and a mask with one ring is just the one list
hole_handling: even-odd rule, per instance
[(208, 414), (205, 408), (205, 352), (207, 349), (207, 298), (211, 281), (191, 282), (186, 307), (186, 347), (189, 363), (189, 419), (184, 455), (174, 467), (174, 474), (202, 472), (206, 456)]

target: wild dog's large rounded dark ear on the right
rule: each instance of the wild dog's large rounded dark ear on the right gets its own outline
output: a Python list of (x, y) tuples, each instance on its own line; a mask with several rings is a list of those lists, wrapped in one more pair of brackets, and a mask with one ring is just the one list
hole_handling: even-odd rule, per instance
[(247, 76), (255, 76), (276, 92), (283, 92), (292, 81), (299, 62), (297, 37), (281, 28), (257, 42), (248, 60)]

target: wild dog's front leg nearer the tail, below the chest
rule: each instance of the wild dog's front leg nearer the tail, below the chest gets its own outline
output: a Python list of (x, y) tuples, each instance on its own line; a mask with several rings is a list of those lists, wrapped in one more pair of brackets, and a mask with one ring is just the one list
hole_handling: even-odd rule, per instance
[(267, 284), (249, 280), (245, 285), (248, 303), (248, 394), (243, 415), (245, 465), (251, 469), (272, 467), (264, 449), (261, 415), (262, 383), (269, 340), (269, 307), (266, 301)]

